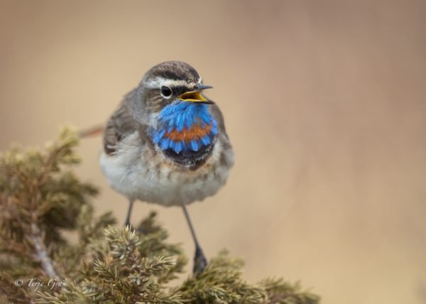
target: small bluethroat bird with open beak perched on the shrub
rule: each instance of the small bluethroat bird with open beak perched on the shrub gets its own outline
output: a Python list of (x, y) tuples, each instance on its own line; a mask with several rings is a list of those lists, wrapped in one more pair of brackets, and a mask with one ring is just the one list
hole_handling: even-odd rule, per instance
[(187, 205), (222, 188), (234, 152), (219, 107), (204, 95), (191, 65), (167, 61), (152, 67), (126, 94), (104, 127), (102, 173), (111, 188), (133, 203), (181, 207), (195, 243), (193, 273), (207, 266)]

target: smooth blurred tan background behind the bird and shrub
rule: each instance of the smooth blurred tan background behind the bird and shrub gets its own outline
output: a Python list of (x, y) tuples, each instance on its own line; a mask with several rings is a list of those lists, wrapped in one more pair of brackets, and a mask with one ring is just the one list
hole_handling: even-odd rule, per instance
[[(425, 28), (425, 1), (1, 0), (0, 149), (106, 121), (148, 68), (187, 61), (236, 153), (190, 207), (207, 255), (323, 303), (426, 303)], [(78, 173), (121, 224), (100, 147), (82, 142)], [(133, 222), (152, 209), (192, 256), (180, 209), (140, 203)]]

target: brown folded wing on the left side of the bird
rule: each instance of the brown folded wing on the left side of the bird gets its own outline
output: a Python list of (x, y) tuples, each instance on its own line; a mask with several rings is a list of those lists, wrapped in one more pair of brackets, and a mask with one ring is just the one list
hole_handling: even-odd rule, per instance
[(138, 130), (138, 122), (133, 119), (129, 109), (129, 97), (131, 93), (126, 95), (120, 103), (119, 108), (112, 114), (104, 129), (104, 151), (107, 154), (116, 151), (117, 144), (124, 137)]

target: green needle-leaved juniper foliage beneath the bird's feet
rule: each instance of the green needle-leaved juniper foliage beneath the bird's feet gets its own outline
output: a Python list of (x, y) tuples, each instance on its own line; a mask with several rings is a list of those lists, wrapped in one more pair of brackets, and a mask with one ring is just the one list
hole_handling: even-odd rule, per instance
[(173, 286), (187, 264), (181, 247), (168, 243), (155, 213), (135, 229), (114, 227), (111, 213), (94, 217), (97, 189), (70, 171), (77, 143), (65, 129), (44, 151), (0, 158), (0, 303), (320, 302), (282, 279), (248, 283), (226, 251)]

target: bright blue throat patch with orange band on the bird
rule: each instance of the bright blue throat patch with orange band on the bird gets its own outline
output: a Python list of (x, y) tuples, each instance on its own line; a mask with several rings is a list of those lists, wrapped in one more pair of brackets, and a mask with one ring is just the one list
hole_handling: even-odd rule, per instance
[(151, 139), (161, 150), (172, 149), (175, 153), (208, 146), (217, 136), (217, 121), (208, 107), (176, 99), (161, 110), (158, 129), (151, 131)]

